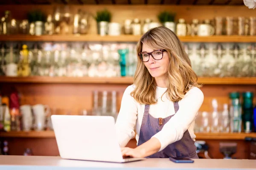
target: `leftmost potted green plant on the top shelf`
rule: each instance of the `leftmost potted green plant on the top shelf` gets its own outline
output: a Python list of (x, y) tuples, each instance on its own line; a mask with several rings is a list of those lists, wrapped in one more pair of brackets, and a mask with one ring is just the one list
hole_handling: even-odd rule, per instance
[(42, 35), (43, 26), (45, 22), (45, 15), (40, 10), (29, 11), (28, 13), (29, 20), (29, 34), (31, 35)]

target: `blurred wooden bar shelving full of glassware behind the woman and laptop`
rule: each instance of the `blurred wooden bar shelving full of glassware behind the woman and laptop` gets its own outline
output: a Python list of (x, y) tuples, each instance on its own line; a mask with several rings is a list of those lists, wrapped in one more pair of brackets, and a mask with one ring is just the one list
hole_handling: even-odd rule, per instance
[(53, 114), (116, 118), (138, 40), (166, 26), (203, 85), (198, 156), (256, 159), (255, 7), (254, 0), (1, 0), (0, 154), (58, 156)]

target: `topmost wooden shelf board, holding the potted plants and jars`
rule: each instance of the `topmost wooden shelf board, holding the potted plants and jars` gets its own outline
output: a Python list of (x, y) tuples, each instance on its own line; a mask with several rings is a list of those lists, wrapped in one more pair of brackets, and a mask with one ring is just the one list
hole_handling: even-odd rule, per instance
[[(119, 35), (119, 36), (99, 36), (98, 34), (85, 35), (0, 35), (1, 41), (44, 41), (44, 42), (137, 42), (141, 35)], [(179, 37), (182, 42), (256, 42), (256, 36), (184, 36)]]

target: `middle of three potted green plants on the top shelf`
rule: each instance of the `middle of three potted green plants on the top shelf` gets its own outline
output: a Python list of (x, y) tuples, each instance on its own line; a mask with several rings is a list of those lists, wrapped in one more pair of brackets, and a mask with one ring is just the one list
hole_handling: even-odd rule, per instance
[(108, 23), (111, 21), (111, 13), (107, 9), (97, 11), (94, 17), (97, 22), (98, 34), (106, 35), (108, 33)]

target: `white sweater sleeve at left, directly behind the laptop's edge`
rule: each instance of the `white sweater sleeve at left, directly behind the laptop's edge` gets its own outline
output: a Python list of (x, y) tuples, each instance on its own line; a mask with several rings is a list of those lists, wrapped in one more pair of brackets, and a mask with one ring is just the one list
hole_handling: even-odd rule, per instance
[(116, 135), (120, 147), (126, 144), (135, 136), (134, 127), (137, 121), (137, 104), (131, 96), (133, 86), (130, 85), (125, 89), (122, 96), (121, 108), (116, 119)]

